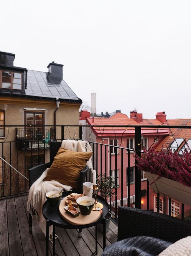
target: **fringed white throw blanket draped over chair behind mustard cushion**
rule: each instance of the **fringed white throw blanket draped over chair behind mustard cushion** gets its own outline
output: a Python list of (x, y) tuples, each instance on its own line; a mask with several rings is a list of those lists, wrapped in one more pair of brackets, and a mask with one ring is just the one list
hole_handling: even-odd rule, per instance
[[(87, 141), (82, 140), (63, 140), (61, 144), (62, 148), (71, 150), (71, 151), (77, 151), (77, 152), (90, 152), (92, 151), (92, 148), (90, 144)], [(87, 165), (91, 170), (92, 167), (92, 159), (90, 159), (87, 162)], [(64, 188), (66, 191), (70, 191), (72, 189), (71, 186), (66, 186), (58, 181), (51, 180), (51, 181), (43, 181), (43, 179), (46, 177), (47, 171), (49, 168), (47, 168), (40, 178), (36, 180), (32, 186), (30, 187), (29, 193), (28, 193), (28, 201), (27, 201), (27, 210), (31, 213), (32, 217), (35, 216), (35, 219), (39, 221), (39, 227), (42, 229), (44, 235), (46, 235), (46, 220), (44, 219), (42, 215), (42, 206), (44, 202), (46, 201), (46, 193), (52, 190), (61, 190)], [(35, 213), (38, 214), (35, 214)], [(52, 239), (53, 234), (53, 227), (50, 226), (49, 228), (49, 237)]]

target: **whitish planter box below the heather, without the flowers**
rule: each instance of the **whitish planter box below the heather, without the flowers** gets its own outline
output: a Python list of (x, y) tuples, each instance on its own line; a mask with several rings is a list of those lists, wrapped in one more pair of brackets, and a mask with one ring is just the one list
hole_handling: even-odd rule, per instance
[[(158, 178), (158, 175), (151, 174), (148, 171), (145, 172), (145, 175), (150, 184)], [(183, 204), (191, 205), (191, 187), (165, 177), (158, 179), (151, 187), (156, 193), (164, 194)]]

